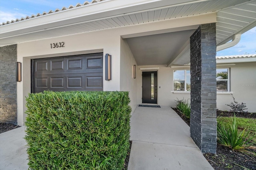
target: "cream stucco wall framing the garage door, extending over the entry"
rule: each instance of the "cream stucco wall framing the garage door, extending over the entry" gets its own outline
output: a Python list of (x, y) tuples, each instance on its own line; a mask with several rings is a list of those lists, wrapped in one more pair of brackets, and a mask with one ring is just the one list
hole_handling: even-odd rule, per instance
[[(143, 35), (152, 35), (158, 33), (167, 33), (174, 31), (181, 31), (187, 29), (195, 29), (198, 24), (216, 22), (216, 14), (205, 14), (202, 16), (192, 16), (177, 18), (172, 20), (156, 21), (151, 23), (144, 23), (138, 25), (130, 25), (126, 27), (117, 27), (112, 29), (103, 29), (92, 32), (78, 33), (74, 35), (66, 35), (62, 37), (44, 39), (44, 36), (40, 32), (32, 33), (31, 35), (37, 36), (37, 41), (29, 41), (25, 43), (18, 43), (17, 45), (17, 61), (22, 63), (22, 82), (17, 83), (17, 104), (18, 104), (18, 125), (23, 125), (26, 115), (26, 100), (25, 97), (31, 92), (30, 87), (30, 59), (48, 58), (48, 57), (61, 57), (68, 55), (80, 55), (89, 53), (109, 53), (112, 55), (112, 80), (103, 82), (103, 89), (112, 90), (128, 90), (132, 99), (131, 106), (134, 109), (136, 103), (136, 89), (134, 84), (125, 84), (120, 80), (120, 74), (122, 77), (129, 77), (125, 74), (125, 71), (120, 71), (120, 65), (126, 61), (120, 61), (120, 37), (136, 37)], [(67, 34), (68, 34), (68, 30)], [(54, 30), (49, 29), (49, 33), (53, 33)], [(64, 42), (65, 47), (50, 48), (51, 43)], [(128, 51), (128, 46), (122, 41), (122, 49)], [(124, 52), (123, 52), (124, 53)], [(125, 54), (126, 55), (126, 54)], [(122, 55), (124, 56), (124, 55)], [(131, 54), (128, 54), (128, 62), (134, 64)], [(103, 63), (104, 66), (104, 63)], [(130, 68), (125, 68), (130, 70)], [(138, 69), (137, 69), (138, 70)], [(138, 75), (138, 74), (137, 74)], [(104, 69), (103, 69), (104, 76)], [(105, 79), (105, 78), (104, 78)], [(127, 80), (127, 79), (126, 79)], [(132, 80), (133, 81), (138, 81)], [(122, 82), (122, 86), (121, 83)], [(135, 83), (136, 84), (136, 83)], [(122, 89), (121, 89), (122, 87)], [(164, 94), (164, 92), (162, 92)], [(138, 98), (138, 96), (137, 96)], [(160, 102), (167, 104), (167, 101), (160, 99)]]

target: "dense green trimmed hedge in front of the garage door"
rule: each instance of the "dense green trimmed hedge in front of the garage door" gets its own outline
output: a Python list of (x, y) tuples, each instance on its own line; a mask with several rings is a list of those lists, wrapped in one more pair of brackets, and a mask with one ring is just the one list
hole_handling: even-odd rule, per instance
[(31, 170), (120, 170), (129, 149), (128, 92), (29, 94), (26, 111)]

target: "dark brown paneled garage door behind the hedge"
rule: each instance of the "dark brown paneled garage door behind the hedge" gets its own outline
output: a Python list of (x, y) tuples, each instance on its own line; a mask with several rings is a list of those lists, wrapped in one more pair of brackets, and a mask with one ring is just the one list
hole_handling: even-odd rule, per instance
[(32, 60), (33, 93), (103, 90), (103, 54)]

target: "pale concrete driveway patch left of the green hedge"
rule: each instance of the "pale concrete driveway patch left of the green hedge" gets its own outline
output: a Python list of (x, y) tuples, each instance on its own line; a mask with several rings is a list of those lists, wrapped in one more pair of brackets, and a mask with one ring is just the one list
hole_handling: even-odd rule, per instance
[(0, 170), (27, 170), (25, 127), (0, 134)]

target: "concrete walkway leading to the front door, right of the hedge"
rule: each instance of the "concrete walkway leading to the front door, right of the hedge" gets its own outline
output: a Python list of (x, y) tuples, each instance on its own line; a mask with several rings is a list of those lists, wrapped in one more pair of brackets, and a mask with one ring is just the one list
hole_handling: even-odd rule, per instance
[(214, 170), (170, 107), (137, 107), (130, 135), (128, 170)]

